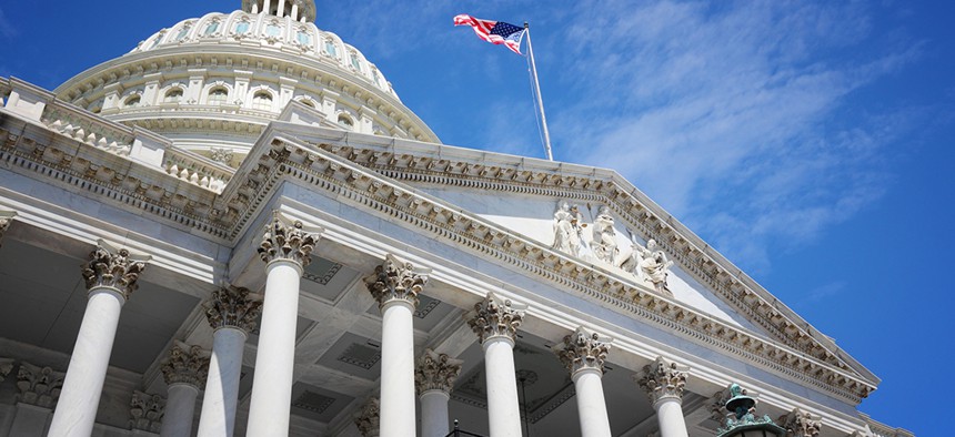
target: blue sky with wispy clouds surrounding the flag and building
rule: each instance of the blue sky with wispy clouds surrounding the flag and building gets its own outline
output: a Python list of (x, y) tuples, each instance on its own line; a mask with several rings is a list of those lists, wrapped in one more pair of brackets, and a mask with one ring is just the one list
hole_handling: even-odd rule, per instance
[[(0, 75), (52, 89), (239, 4), (4, 2)], [(883, 378), (862, 411), (948, 434), (955, 3), (319, 1), (444, 143), (541, 157), (524, 59), (458, 13), (531, 22), (556, 160), (616, 170), (834, 337)]]

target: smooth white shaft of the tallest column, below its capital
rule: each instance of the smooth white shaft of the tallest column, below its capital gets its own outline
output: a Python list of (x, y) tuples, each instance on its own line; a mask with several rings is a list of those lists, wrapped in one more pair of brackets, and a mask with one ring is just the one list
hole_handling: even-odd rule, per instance
[(269, 263), (265, 270), (265, 299), (248, 435), (288, 436), (302, 266), (280, 258)]

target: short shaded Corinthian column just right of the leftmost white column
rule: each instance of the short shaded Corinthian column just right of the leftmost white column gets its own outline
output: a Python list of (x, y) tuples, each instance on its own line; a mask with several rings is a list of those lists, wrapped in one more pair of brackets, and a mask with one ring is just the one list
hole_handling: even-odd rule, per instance
[(195, 414), (195, 397), (209, 373), (209, 353), (199, 346), (175, 342), (169, 358), (162, 362), (162, 376), (169, 386), (165, 414), (162, 416), (161, 437), (189, 437), (192, 435), (192, 417)]

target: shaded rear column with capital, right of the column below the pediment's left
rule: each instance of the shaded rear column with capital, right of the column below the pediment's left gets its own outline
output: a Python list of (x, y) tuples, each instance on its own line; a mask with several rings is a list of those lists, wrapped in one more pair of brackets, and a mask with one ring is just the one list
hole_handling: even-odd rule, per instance
[(414, 384), (421, 400), (421, 437), (444, 437), (451, 429), (448, 402), (462, 363), (431, 349), (425, 349), (419, 359)]

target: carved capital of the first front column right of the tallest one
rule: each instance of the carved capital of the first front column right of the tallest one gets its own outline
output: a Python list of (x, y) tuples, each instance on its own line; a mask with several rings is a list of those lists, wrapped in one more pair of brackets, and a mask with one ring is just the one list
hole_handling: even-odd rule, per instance
[(418, 307), (418, 294), (428, 283), (426, 270), (415, 270), (411, 263), (402, 262), (392, 254), (374, 267), (374, 273), (364, 280), (368, 291), (378, 301), (379, 308), (394, 301), (406, 301)]

